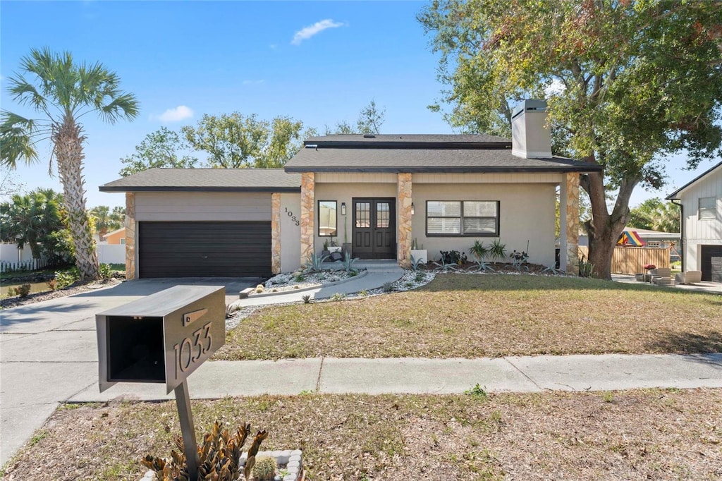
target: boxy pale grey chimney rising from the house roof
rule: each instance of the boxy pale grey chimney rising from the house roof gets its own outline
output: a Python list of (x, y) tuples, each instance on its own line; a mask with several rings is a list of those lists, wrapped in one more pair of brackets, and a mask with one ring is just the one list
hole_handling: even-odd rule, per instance
[(549, 159), (552, 134), (547, 123), (546, 100), (524, 100), (511, 116), (511, 153), (517, 157)]

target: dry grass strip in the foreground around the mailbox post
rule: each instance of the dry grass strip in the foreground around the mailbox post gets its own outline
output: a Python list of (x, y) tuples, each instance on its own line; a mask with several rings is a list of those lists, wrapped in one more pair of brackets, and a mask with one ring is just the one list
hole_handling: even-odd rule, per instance
[[(173, 402), (58, 410), (4, 480), (137, 480), (168, 456)], [(722, 389), (194, 401), (214, 420), (266, 428), (264, 449), (303, 449), (307, 479), (713, 480), (722, 477)], [(41, 460), (41, 461), (39, 461)]]

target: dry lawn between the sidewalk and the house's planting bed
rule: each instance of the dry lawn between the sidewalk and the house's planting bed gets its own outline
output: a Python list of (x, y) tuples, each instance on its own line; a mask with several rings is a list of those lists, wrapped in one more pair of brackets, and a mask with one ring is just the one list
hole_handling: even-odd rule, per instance
[(722, 352), (722, 296), (601, 280), (439, 274), (419, 290), (268, 307), (216, 359)]

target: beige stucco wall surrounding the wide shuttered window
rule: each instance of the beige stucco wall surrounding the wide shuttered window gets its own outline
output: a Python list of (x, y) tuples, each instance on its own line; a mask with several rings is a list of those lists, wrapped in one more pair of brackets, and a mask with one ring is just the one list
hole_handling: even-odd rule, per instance
[(426, 201), (490, 200), (500, 202), (500, 240), (509, 252), (526, 250), (529, 241), (529, 261), (545, 266), (554, 265), (554, 203), (556, 186), (553, 183), (507, 183), (484, 185), (413, 184), (414, 216), (412, 237), (419, 247), (428, 251), (430, 260), (440, 259), (439, 251), (464, 251), (468, 254), (474, 241), (484, 244), (493, 237), (426, 237)]

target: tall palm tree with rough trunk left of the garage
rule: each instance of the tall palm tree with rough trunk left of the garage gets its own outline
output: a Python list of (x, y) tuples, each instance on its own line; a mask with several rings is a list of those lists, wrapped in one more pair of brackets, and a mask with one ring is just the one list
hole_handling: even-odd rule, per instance
[(75, 64), (69, 52), (32, 49), (22, 58), (20, 71), (8, 79), (8, 91), (20, 105), (29, 105), (43, 118), (25, 118), (3, 110), (0, 165), (16, 168), (19, 160), (38, 161), (38, 142), (50, 139), (50, 160), (55, 156), (58, 165), (80, 278), (84, 282), (97, 279), (82, 175), (86, 138), (79, 118), (94, 112), (108, 123), (133, 119), (138, 115), (138, 101), (119, 89), (120, 79), (114, 72), (102, 64)]

